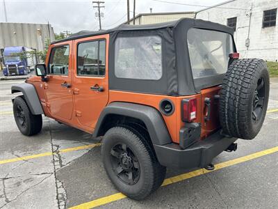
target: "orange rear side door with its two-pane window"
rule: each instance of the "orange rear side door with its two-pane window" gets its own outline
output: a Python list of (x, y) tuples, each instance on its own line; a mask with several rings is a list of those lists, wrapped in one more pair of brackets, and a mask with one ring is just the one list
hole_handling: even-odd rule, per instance
[(108, 38), (74, 40), (74, 109), (79, 123), (90, 130), (108, 102)]

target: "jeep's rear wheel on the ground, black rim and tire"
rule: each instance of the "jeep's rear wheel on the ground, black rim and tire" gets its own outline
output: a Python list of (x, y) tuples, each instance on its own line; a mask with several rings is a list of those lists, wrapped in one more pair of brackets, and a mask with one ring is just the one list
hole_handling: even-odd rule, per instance
[(165, 178), (154, 149), (131, 127), (112, 127), (101, 146), (104, 168), (115, 187), (131, 199), (145, 199)]

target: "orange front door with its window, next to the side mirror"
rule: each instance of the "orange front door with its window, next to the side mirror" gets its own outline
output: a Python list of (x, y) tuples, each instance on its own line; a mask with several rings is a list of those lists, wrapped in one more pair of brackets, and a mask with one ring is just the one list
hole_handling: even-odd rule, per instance
[(47, 82), (44, 84), (47, 107), (51, 116), (60, 121), (72, 118), (71, 49), (72, 41), (54, 45), (47, 63)]

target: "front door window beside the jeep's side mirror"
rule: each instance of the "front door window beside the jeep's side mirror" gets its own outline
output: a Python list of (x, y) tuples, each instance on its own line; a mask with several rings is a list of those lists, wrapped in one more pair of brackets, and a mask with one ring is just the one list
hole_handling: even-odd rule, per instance
[(70, 54), (69, 45), (54, 47), (51, 50), (48, 73), (54, 75), (68, 75), (69, 74), (69, 54)]

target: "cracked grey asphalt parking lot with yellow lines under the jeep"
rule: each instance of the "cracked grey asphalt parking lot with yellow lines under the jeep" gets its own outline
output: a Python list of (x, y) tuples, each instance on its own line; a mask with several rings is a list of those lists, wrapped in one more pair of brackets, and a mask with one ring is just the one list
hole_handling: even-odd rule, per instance
[(167, 169), (163, 187), (145, 201), (117, 192), (90, 134), (43, 119), (34, 137), (20, 134), (10, 86), (0, 81), (0, 208), (277, 208), (278, 79), (259, 135), (215, 158), (216, 169)]

